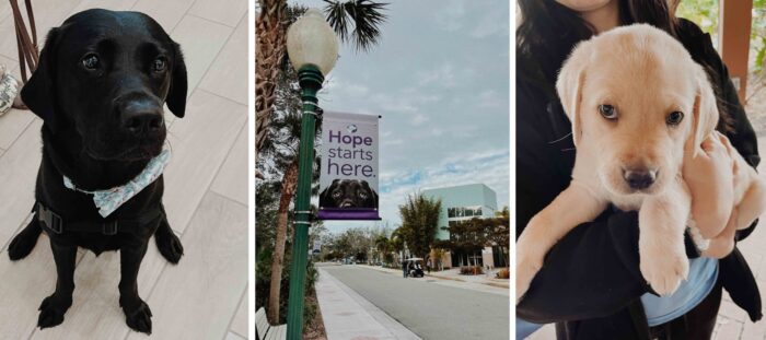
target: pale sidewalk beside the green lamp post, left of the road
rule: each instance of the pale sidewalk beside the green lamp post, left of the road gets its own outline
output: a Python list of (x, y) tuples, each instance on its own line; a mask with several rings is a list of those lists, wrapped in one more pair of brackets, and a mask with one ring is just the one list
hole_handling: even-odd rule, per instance
[(420, 339), (385, 312), (317, 267), (314, 288), (329, 340)]

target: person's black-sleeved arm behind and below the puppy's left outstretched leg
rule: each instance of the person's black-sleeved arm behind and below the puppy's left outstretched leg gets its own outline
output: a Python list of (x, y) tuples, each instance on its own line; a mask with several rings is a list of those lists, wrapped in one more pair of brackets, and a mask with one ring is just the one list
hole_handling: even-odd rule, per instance
[[(571, 168), (562, 169), (559, 162), (573, 155), (567, 150), (571, 140), (552, 143), (555, 133), (549, 133), (552, 125), (562, 122), (562, 113), (549, 115), (544, 103), (517, 92), (518, 233), (570, 180)], [(638, 258), (637, 213), (607, 211), (554, 246), (517, 315), (547, 324), (614, 314), (649, 290)]]

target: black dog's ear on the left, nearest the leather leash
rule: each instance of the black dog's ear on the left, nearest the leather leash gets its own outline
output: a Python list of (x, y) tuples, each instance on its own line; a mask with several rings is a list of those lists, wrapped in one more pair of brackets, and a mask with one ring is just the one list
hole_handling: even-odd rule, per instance
[(56, 127), (56, 43), (59, 28), (51, 28), (45, 39), (45, 46), (39, 54), (37, 69), (32, 73), (30, 81), (21, 90), (21, 98), (24, 104), (45, 122), (45, 126), (55, 130)]

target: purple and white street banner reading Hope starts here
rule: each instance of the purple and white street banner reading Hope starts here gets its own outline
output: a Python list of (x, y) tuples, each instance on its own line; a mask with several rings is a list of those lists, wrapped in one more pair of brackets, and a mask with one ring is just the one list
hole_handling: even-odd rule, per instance
[(320, 220), (380, 220), (379, 116), (325, 112), (322, 118)]

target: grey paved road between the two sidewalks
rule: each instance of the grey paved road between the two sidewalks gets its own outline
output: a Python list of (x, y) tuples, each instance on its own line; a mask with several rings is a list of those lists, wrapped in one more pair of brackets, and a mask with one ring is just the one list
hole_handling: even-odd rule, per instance
[(507, 296), (357, 266), (323, 269), (423, 339), (510, 339)]

